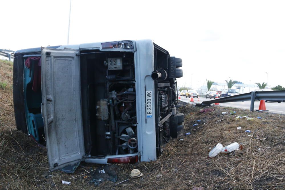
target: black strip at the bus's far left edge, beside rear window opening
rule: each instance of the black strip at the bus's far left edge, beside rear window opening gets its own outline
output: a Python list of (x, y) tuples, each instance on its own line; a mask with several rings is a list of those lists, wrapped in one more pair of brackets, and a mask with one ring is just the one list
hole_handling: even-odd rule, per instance
[(24, 62), (22, 56), (14, 58), (13, 64), (13, 102), (16, 127), (24, 133), (28, 132), (25, 107), (24, 107), (24, 83), (23, 83)]

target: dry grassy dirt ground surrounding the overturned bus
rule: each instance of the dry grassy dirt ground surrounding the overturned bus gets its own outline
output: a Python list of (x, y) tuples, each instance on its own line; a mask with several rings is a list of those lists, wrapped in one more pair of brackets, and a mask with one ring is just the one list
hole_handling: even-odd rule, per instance
[[(12, 78), (12, 63), (0, 61), (0, 82), (7, 81), (0, 88), (0, 189), (285, 189), (285, 116), (218, 106), (207, 113), (192, 105), (182, 107), (185, 128), (180, 136), (155, 162), (116, 165), (116, 183), (89, 183), (98, 165), (84, 162), (73, 174), (50, 173), (46, 149), (16, 130)], [(236, 113), (230, 115), (231, 111)], [(217, 143), (233, 142), (240, 144), (239, 150), (208, 158)], [(143, 176), (131, 179), (135, 168)]]

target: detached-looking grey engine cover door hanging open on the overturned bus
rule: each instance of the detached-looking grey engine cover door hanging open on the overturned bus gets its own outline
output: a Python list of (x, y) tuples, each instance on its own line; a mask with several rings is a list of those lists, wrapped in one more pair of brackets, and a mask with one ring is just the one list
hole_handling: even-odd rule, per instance
[(84, 157), (78, 54), (42, 48), (42, 117), (51, 171)]

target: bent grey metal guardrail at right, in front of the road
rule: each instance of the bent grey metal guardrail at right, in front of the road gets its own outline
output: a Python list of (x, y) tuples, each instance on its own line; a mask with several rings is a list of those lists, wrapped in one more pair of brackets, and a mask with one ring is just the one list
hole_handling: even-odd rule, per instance
[(255, 100), (283, 101), (285, 100), (285, 90), (249, 92), (249, 93), (214, 99), (210, 101), (203, 101), (201, 104), (196, 104), (196, 106), (206, 107), (206, 106), (211, 106), (211, 104), (213, 103), (251, 101), (250, 111), (253, 111)]

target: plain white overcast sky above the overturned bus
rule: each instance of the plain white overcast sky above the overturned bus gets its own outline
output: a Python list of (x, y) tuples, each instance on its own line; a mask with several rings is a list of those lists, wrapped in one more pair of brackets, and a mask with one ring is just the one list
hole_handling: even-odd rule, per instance
[[(67, 43), (69, 0), (0, 0), (0, 48)], [(182, 58), (192, 87), (206, 79), (285, 87), (285, 1), (72, 0), (69, 44), (152, 38)], [(7, 19), (5, 23), (3, 20)], [(9, 24), (9, 21), (11, 24)], [(217, 67), (220, 68), (217, 68)]]

